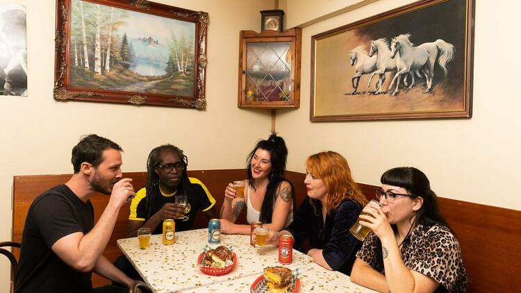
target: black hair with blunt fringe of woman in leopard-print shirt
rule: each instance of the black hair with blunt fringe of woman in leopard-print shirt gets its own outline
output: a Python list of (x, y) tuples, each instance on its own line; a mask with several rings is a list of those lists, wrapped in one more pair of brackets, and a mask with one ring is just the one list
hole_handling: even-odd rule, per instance
[[(440, 214), (438, 208), (438, 196), (431, 190), (431, 183), (429, 178), (415, 167), (396, 167), (387, 170), (382, 174), (380, 182), (386, 185), (402, 187), (407, 190), (412, 199), (422, 197), (423, 204), (420, 210), (416, 211), (414, 222), (411, 223), (411, 228), (418, 224), (424, 226), (432, 226), (433, 224), (440, 224), (447, 227), (450, 231), (449, 224)], [(391, 224), (392, 231), (397, 231), (397, 226)], [(383, 258), (381, 256), (381, 242), (377, 240), (377, 270), (383, 269)]]

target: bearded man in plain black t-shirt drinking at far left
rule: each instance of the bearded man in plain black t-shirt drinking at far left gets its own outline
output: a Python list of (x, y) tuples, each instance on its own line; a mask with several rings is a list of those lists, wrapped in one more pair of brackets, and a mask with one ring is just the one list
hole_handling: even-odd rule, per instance
[[(133, 280), (101, 253), (119, 209), (134, 195), (131, 178), (122, 178), (121, 147), (87, 135), (72, 149), (74, 174), (63, 185), (40, 194), (28, 210), (15, 292), (127, 292), (123, 287), (92, 289), (92, 271), (130, 286)], [(89, 197), (110, 195), (94, 225)]]

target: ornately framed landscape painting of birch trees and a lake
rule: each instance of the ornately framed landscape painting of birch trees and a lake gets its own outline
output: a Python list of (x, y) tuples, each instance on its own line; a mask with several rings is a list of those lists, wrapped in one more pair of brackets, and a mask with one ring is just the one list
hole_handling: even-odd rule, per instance
[(54, 99), (204, 109), (208, 13), (57, 0)]

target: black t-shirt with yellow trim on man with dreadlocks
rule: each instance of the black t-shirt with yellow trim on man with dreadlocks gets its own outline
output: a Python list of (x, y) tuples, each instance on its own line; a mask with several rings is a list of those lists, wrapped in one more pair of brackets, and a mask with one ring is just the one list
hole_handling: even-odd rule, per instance
[[(206, 212), (215, 205), (215, 199), (212, 194), (208, 191), (206, 186), (199, 181), (197, 178), (188, 177), (190, 179), (190, 185), (188, 186), (188, 205), (185, 209), (185, 215), (183, 219), (175, 219), (176, 231), (187, 231), (191, 230), (194, 224), (195, 215), (197, 210)], [(163, 207), (165, 203), (174, 203), (176, 192), (173, 194), (163, 194), (161, 192), (158, 196), (158, 206)], [(159, 210), (159, 209), (158, 209)], [(154, 215), (158, 210), (154, 210)], [(132, 199), (130, 207), (129, 220), (133, 221), (146, 221), (147, 220), (147, 190), (146, 188), (140, 189), (134, 199)], [(163, 225), (159, 224), (152, 234), (163, 233)]]

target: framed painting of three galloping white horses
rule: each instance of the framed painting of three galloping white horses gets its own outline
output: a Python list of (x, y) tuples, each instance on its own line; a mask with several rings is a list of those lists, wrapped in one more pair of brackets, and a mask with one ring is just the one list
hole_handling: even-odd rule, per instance
[(472, 117), (473, 7), (418, 1), (313, 35), (311, 121)]

